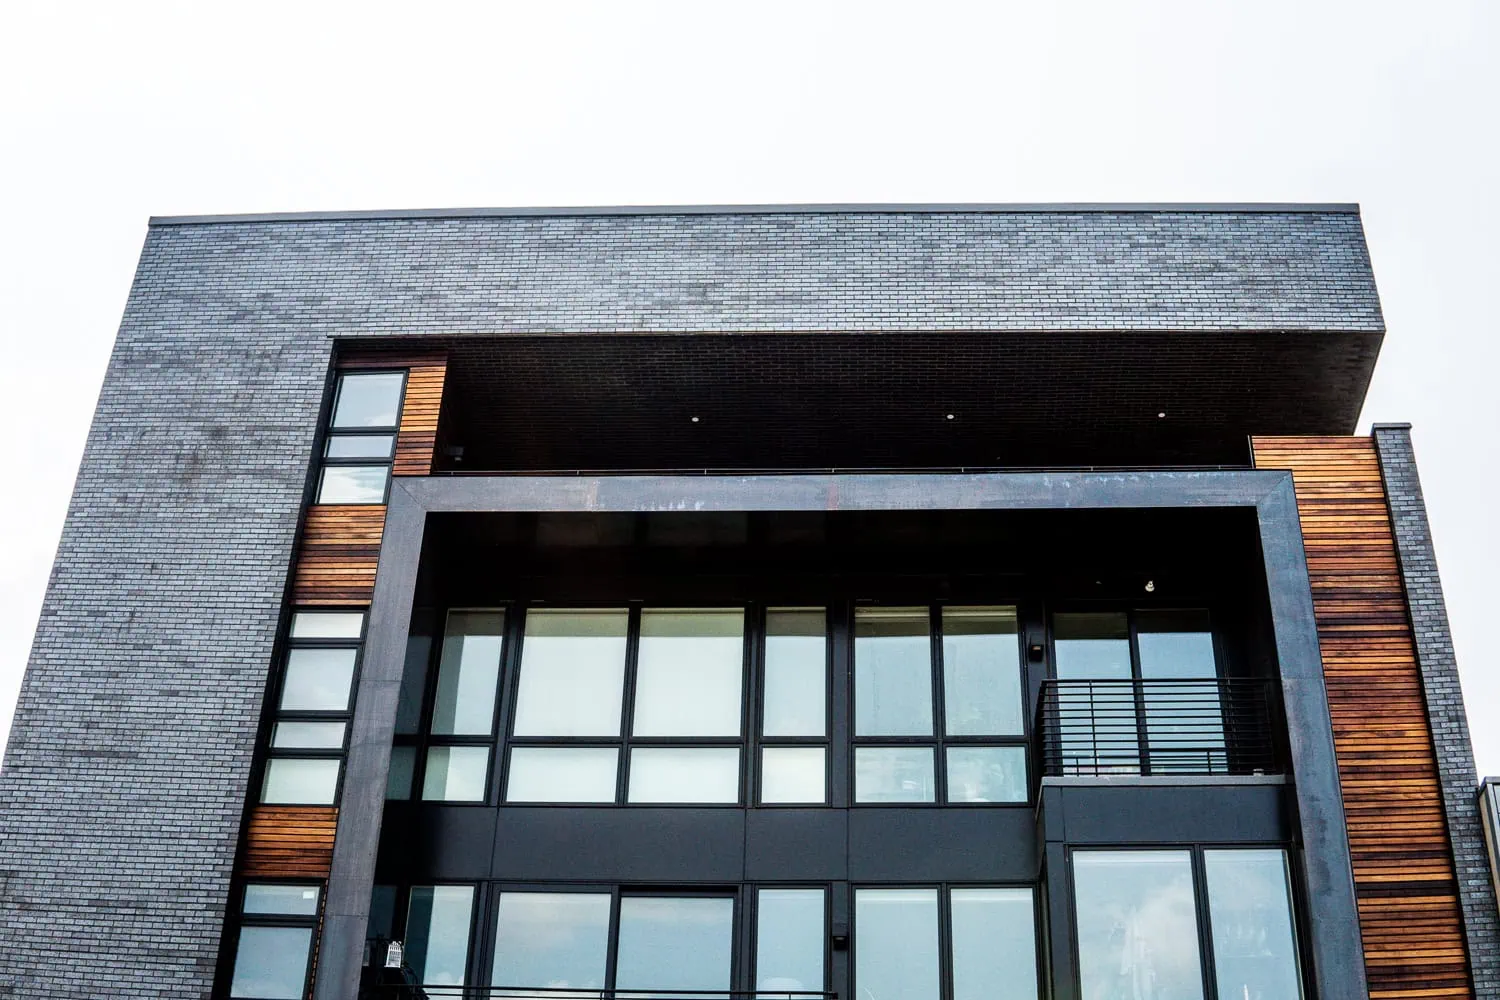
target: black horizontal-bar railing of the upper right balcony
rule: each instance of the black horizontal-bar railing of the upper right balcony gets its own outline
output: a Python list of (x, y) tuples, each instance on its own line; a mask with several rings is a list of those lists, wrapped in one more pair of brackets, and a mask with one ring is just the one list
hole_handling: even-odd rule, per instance
[(1262, 678), (1046, 681), (1042, 777), (1281, 774), (1276, 688)]

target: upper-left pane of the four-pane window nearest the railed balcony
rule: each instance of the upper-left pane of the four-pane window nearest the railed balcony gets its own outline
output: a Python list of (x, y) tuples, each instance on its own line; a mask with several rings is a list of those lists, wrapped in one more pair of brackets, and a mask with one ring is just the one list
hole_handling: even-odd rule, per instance
[(932, 736), (927, 609), (856, 609), (854, 634), (855, 735)]

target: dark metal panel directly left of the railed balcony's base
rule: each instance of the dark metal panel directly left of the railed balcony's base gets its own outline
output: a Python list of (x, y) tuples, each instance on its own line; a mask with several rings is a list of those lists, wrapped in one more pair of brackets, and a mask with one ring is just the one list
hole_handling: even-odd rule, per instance
[(1029, 808), (849, 810), (850, 882), (1024, 882), (1036, 877)]

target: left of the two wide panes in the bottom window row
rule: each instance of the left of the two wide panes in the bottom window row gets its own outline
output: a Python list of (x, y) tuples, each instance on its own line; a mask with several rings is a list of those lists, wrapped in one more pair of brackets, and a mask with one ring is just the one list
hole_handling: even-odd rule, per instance
[(608, 955), (608, 892), (500, 895), (492, 985), (602, 990)]

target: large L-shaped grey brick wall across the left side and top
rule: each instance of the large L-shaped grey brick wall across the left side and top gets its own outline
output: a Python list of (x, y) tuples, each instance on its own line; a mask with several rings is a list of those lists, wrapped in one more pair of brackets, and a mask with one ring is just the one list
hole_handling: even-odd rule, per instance
[(202, 997), (330, 337), (1382, 330), (1358, 214), (159, 225), (0, 771), (0, 996)]

